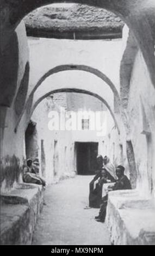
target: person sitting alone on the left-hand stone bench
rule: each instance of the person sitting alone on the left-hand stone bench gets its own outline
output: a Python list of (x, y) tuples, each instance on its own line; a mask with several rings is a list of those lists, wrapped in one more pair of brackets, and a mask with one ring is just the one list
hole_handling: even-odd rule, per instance
[(45, 180), (38, 174), (35, 174), (31, 159), (27, 160), (27, 166), (23, 168), (23, 182), (46, 186)]

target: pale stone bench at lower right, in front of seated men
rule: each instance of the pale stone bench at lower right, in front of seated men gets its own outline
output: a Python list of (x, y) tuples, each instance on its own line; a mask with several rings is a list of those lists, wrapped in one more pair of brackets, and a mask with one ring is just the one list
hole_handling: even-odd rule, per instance
[(135, 190), (109, 192), (106, 224), (113, 245), (155, 245), (155, 208)]

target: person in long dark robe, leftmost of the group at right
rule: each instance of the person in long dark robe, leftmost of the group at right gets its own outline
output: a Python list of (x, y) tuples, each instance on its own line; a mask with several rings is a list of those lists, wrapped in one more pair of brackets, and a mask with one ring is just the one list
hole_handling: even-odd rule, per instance
[(103, 167), (103, 157), (101, 155), (97, 156), (97, 167), (96, 175), (89, 184), (89, 208), (100, 208), (103, 184), (115, 182), (114, 177)]

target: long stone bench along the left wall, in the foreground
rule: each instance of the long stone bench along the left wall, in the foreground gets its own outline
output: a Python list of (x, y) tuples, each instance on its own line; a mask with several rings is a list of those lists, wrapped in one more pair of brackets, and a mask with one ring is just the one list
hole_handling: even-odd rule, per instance
[(1, 194), (1, 245), (30, 245), (42, 209), (44, 188), (17, 184)]

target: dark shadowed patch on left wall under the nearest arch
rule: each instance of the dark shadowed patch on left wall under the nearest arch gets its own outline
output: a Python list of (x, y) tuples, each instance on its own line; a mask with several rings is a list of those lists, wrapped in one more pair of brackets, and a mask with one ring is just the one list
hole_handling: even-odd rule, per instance
[(17, 89), (18, 40), (16, 32), (0, 53), (0, 59), (0, 105), (10, 107)]

